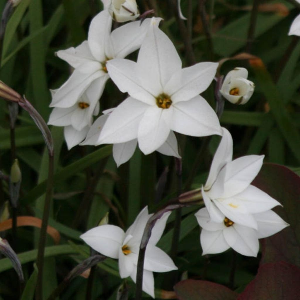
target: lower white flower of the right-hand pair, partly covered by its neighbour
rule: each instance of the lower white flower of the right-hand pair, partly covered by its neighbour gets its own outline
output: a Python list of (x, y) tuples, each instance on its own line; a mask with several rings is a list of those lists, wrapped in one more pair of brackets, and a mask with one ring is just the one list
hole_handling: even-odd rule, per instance
[(202, 255), (221, 253), (231, 247), (243, 255), (257, 256), (259, 238), (273, 235), (289, 225), (271, 210), (253, 214), (257, 230), (234, 223), (224, 215), (219, 222), (211, 221), (206, 208), (200, 209), (195, 216), (202, 227)]

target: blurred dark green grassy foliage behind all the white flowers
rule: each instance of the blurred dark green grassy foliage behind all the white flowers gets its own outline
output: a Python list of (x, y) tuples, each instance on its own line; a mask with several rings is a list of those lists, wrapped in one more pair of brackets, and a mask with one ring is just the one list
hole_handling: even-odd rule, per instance
[[(187, 21), (176, 19), (173, 0), (137, 1), (141, 12), (156, 8), (156, 14), (164, 18), (161, 29), (175, 44), (184, 66), (199, 61), (219, 61), (241, 52), (261, 58), (265, 66), (265, 69), (252, 68), (247, 60), (233, 59), (224, 62), (219, 70), (220, 75), (226, 75), (234, 67), (246, 67), (248, 79), (256, 85), (246, 105), (226, 102), (220, 120), (233, 136), (234, 157), (264, 154), (265, 162), (282, 164), (299, 173), (300, 42), (298, 37), (287, 33), (299, 13), (300, 4), (263, 1), (251, 22), (253, 1), (181, 2)], [(0, 12), (5, 3), (0, 0)], [(49, 88), (58, 88), (71, 72), (67, 63), (55, 56), (55, 51), (84, 41), (92, 17), (101, 9), (99, 0), (22, 0), (10, 17), (1, 45), (0, 79), (26, 95), (46, 121), (50, 113)], [(250, 24), (255, 28), (249, 43)], [(131, 59), (136, 57), (137, 53), (130, 55)], [(214, 84), (203, 95), (215, 107)], [(109, 81), (100, 101), (101, 110), (116, 106), (125, 97)], [(45, 299), (76, 264), (90, 255), (89, 248), (79, 239), (82, 232), (96, 226), (107, 211), (111, 224), (127, 228), (141, 208), (149, 205), (153, 212), (162, 207), (176, 196), (179, 186), (171, 157), (156, 152), (145, 156), (137, 149), (133, 158), (117, 169), (111, 146), (76, 146), (68, 151), (63, 128), (53, 127), (51, 131), (55, 141), (55, 187), (49, 225), (61, 238), (58, 241), (49, 237), (47, 241)], [(15, 133), (16, 156), (22, 171), (18, 215), (41, 218), (47, 176), (44, 140), (22, 110)], [(200, 187), (206, 180), (219, 138), (178, 136), (178, 139), (183, 190)], [(8, 107), (5, 101), (0, 101), (0, 170), (4, 175), (10, 172), (10, 156)], [(2, 216), (8, 199), (8, 183), (2, 180)], [(193, 216), (197, 209), (199, 207), (182, 211), (180, 243), (175, 258), (179, 271), (156, 274), (156, 287), (172, 290), (174, 278), (196, 278), (243, 290), (256, 274), (259, 260), (236, 256), (232, 251), (201, 256), (199, 226)], [(158, 244), (167, 252), (171, 249), (174, 218), (172, 214), (166, 234)], [(11, 230), (1, 230), (1, 237), (11, 241)], [(20, 253), (26, 282), (35, 274), (33, 261), (38, 233), (39, 229), (32, 226), (18, 227), (17, 239), (13, 241), (15, 251)], [(117, 262), (107, 259), (98, 267), (93, 270), (92, 289), (90, 281), (77, 277), (62, 293), (61, 299), (84, 299), (88, 289), (91, 299), (116, 299), (117, 288), (122, 283)], [(7, 259), (0, 259), (0, 272), (0, 299), (19, 298), (17, 277)], [(35, 277), (31, 278), (29, 289), (33, 290)], [(130, 281), (128, 284), (129, 292), (133, 293), (134, 285)]]

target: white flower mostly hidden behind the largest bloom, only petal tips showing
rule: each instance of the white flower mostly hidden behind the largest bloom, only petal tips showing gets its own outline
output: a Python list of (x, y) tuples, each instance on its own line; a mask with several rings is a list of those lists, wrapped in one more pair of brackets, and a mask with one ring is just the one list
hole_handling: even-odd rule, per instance
[[(91, 128), (88, 131), (85, 141), (83, 141), (80, 145), (95, 145), (97, 146), (99, 136), (101, 134), (102, 128), (109, 117), (109, 113), (111, 113), (113, 109), (104, 111), (104, 115), (100, 116)], [(113, 145), (113, 158), (119, 167), (121, 164), (126, 163), (134, 154), (134, 151), (137, 147), (137, 139), (133, 139), (131, 141), (125, 143), (117, 143)], [(181, 158), (178, 153), (178, 145), (177, 139), (173, 131), (170, 131), (169, 137), (166, 142), (157, 149), (158, 152), (164, 155), (175, 156), (177, 158)]]

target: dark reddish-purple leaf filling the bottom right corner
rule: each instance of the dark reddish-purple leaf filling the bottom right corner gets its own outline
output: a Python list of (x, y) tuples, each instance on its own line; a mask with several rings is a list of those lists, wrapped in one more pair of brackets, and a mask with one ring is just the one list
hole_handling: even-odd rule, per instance
[(300, 299), (300, 268), (287, 262), (266, 263), (237, 300)]

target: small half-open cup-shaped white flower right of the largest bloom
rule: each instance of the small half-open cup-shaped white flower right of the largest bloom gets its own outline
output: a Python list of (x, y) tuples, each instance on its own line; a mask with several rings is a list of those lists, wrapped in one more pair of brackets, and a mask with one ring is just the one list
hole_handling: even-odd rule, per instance
[(230, 71), (223, 82), (220, 93), (233, 104), (245, 104), (253, 94), (255, 85), (247, 79), (245, 68), (235, 68)]

